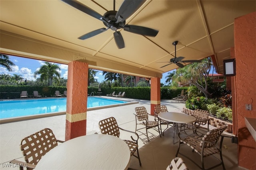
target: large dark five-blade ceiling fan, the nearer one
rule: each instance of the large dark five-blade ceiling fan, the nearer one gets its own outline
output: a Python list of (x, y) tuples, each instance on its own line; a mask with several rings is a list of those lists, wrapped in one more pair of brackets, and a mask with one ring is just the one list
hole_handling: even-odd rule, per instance
[(138, 25), (128, 25), (125, 24), (125, 20), (130, 17), (146, 0), (124, 0), (120, 9), (118, 11), (115, 10), (115, 0), (114, 0), (114, 10), (106, 12), (103, 16), (100, 15), (98, 12), (92, 10), (88, 6), (81, 4), (75, 0), (62, 0), (63, 2), (73, 6), (74, 8), (102, 21), (106, 28), (96, 29), (89, 33), (86, 33), (78, 39), (88, 39), (95, 35), (98, 35), (108, 29), (112, 29), (114, 32), (114, 39), (118, 49), (124, 48), (124, 39), (120, 31), (118, 29), (123, 28), (124, 31), (128, 31), (131, 33), (137, 33), (146, 36), (155, 37), (158, 34), (158, 30), (151, 29), (148, 27), (142, 27)]

